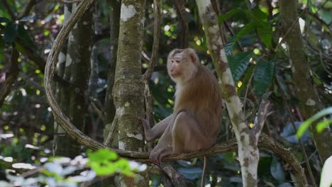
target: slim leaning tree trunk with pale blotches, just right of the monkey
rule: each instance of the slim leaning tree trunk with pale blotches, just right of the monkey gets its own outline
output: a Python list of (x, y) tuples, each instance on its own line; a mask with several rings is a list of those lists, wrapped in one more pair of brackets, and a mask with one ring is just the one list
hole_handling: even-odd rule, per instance
[(199, 17), (204, 26), (206, 44), (209, 48), (216, 72), (221, 79), (221, 91), (226, 101), (228, 114), (231, 118), (233, 130), (238, 141), (238, 160), (241, 165), (243, 186), (257, 186), (257, 169), (260, 158), (258, 150), (258, 136), (260, 130), (250, 134), (245, 124), (245, 118), (241, 109), (240, 99), (234, 86), (231, 69), (228, 66), (226, 52), (221, 40), (218, 17), (209, 0), (196, 0), (199, 9)]

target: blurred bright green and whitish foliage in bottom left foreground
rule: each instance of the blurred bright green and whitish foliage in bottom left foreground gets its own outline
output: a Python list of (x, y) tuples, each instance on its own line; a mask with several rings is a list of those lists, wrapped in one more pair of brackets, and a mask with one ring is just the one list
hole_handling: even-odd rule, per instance
[[(14, 176), (7, 173), (9, 182), (0, 181), (2, 186), (36, 186), (43, 183), (48, 186), (78, 186), (78, 183), (92, 181), (96, 176), (112, 175), (116, 172), (133, 176), (134, 171), (143, 171), (145, 165), (135, 162), (129, 164), (126, 159), (118, 159), (118, 155), (109, 149), (89, 152), (88, 158), (77, 156), (74, 159), (57, 157), (50, 159), (43, 166), (31, 166), (40, 170), (36, 177)], [(103, 164), (103, 166), (101, 166)], [(33, 172), (31, 172), (33, 173)]]

